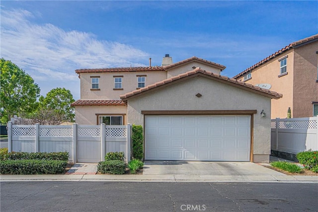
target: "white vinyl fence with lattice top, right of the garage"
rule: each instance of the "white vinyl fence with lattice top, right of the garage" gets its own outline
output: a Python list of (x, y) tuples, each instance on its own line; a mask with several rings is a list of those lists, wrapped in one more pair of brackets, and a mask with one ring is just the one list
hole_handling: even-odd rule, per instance
[(318, 116), (310, 118), (272, 119), (271, 149), (297, 154), (318, 150)]

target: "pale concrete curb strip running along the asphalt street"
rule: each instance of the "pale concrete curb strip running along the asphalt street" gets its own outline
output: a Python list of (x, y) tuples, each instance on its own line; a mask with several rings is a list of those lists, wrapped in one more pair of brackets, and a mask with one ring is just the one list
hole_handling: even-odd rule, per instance
[(214, 182), (214, 183), (318, 183), (318, 176), (303, 175), (0, 175), (0, 182)]

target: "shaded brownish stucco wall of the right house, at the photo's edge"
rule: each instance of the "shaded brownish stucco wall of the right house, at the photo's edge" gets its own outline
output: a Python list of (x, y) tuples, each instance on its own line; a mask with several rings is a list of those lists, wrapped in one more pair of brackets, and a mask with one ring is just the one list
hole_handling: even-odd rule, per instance
[(318, 101), (318, 41), (294, 49), (294, 118), (312, 117)]

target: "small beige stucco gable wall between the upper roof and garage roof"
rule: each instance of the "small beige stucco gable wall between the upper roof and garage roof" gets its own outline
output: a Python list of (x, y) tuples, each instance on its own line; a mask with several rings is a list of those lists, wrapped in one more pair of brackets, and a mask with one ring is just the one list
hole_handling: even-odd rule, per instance
[(221, 72), (221, 70), (218, 68), (214, 68), (214, 67), (208, 66), (206, 64), (193, 61), (191, 63), (185, 64), (185, 65), (173, 68), (173, 69), (169, 69), (167, 72), (167, 78), (179, 75), (181, 73), (185, 73), (187, 71), (192, 71), (193, 70), (192, 67), (196, 67), (196, 68), (200, 67), (201, 69), (203, 69), (205, 71), (211, 71), (211, 72), (217, 73), (217, 74), (220, 74), (220, 72)]

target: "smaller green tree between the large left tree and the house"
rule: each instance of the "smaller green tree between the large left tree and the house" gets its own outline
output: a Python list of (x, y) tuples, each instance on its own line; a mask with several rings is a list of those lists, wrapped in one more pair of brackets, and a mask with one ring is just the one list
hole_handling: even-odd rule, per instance
[(75, 109), (71, 106), (74, 101), (71, 91), (60, 87), (50, 90), (46, 97), (39, 98), (40, 109), (55, 111), (58, 116), (62, 115), (63, 122), (74, 122)]

